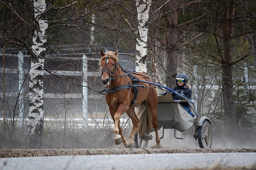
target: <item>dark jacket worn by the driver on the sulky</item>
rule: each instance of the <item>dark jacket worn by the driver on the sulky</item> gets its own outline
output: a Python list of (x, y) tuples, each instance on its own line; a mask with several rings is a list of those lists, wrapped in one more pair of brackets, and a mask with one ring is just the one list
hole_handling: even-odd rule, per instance
[[(181, 94), (182, 96), (187, 97), (189, 100), (191, 99), (191, 95), (192, 92), (189, 88), (187, 87), (180, 87), (180, 86), (176, 86), (175, 88), (173, 88), (172, 90), (174, 90), (175, 92), (178, 92), (179, 94)], [(172, 94), (172, 97), (174, 100), (183, 100), (183, 98), (181, 98), (180, 96), (176, 95), (176, 94)], [(188, 103), (186, 102), (181, 102), (180, 103), (181, 106), (189, 106)]]

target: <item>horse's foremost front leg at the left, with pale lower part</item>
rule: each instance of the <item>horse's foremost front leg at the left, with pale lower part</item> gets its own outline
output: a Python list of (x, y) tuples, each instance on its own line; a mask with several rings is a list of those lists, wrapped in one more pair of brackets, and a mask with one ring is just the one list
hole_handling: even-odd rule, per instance
[(129, 105), (121, 104), (121, 105), (119, 105), (119, 107), (114, 115), (114, 122), (115, 122), (114, 133), (115, 133), (116, 145), (119, 145), (121, 143), (121, 139), (122, 139), (124, 145), (126, 145), (126, 140), (122, 134), (121, 126), (119, 125), (119, 123), (120, 123), (121, 115), (124, 114), (128, 109), (129, 109)]

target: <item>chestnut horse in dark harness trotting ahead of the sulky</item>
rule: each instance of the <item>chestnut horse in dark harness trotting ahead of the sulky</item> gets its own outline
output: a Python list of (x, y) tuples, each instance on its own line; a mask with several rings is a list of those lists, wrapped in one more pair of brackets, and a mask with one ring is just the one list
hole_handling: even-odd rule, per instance
[[(115, 144), (119, 145), (122, 139), (125, 147), (134, 147), (134, 135), (136, 132), (141, 137), (146, 132), (153, 132), (155, 130), (156, 144), (159, 145), (156, 89), (150, 86), (150, 84), (139, 81), (134, 85), (134, 81), (132, 81), (134, 77), (144, 81), (151, 81), (150, 78), (146, 73), (125, 72), (118, 64), (118, 51), (104, 53), (101, 50), (100, 55), (101, 80), (107, 86), (106, 102), (115, 123)], [(133, 75), (132, 78), (131, 75)], [(137, 88), (138, 92), (135, 92), (134, 88)], [(135, 106), (139, 106), (137, 110), (140, 112), (140, 118), (135, 114)], [(119, 124), (119, 118), (125, 112), (131, 118), (133, 124), (129, 141), (126, 141)]]

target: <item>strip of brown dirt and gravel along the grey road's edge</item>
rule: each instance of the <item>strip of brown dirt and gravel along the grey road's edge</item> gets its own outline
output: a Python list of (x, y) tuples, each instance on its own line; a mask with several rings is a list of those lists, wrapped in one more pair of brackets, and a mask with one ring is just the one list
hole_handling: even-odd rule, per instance
[(38, 157), (67, 155), (174, 154), (211, 152), (256, 152), (256, 149), (0, 149), (0, 157)]

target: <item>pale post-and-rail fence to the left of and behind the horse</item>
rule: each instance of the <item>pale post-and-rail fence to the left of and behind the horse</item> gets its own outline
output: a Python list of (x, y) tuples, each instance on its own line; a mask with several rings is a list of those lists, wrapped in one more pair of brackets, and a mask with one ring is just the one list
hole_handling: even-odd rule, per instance
[[(28, 115), (28, 75), (30, 56), (0, 54), (0, 115), (19, 115), (20, 126)], [(3, 58), (5, 57), (5, 58)], [(2, 60), (3, 59), (3, 60)], [(119, 53), (119, 63), (127, 70), (135, 69), (131, 54)], [(44, 71), (44, 116), (56, 114), (83, 118), (88, 125), (91, 115), (108, 112), (100, 82), (99, 53), (47, 54)], [(17, 117), (18, 118), (18, 117)]]

